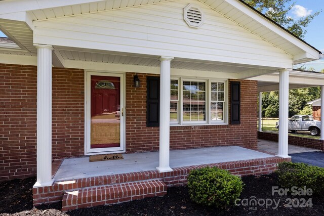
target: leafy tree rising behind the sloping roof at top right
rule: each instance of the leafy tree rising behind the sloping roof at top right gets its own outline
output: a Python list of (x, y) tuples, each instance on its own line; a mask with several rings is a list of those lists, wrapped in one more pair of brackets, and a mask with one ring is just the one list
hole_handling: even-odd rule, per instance
[(314, 14), (294, 20), (292, 17), (288, 16), (288, 13), (295, 6), (295, 3), (291, 3), (292, 0), (243, 1), (300, 38), (305, 36), (307, 32), (305, 28), (314, 19), (314, 17), (319, 14), (319, 11), (317, 11)]

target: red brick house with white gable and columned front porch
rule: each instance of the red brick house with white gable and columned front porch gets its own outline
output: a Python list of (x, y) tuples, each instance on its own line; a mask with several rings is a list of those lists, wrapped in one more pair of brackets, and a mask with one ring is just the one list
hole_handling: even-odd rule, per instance
[[(34, 204), (63, 199), (64, 210), (163, 195), (201, 164), (237, 175), (273, 171), (289, 160), (288, 124), (280, 121), (278, 155), (253, 151), (259, 79), (277, 74), (287, 119), (290, 70), (321, 57), (238, 0), (5, 0), (0, 29), (10, 38), (0, 43), (0, 180), (36, 175)], [(170, 165), (170, 152), (208, 156), (204, 148), (217, 146), (227, 160)], [(133, 162), (127, 173), (63, 173), (85, 156), (156, 151), (157, 167), (144, 171)], [(262, 156), (241, 158), (245, 151)], [(94, 186), (131, 195), (99, 200)]]

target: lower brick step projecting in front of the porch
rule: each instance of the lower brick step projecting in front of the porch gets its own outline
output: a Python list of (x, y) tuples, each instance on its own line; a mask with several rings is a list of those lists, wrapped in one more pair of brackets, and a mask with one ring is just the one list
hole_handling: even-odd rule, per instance
[(146, 197), (164, 196), (167, 185), (159, 180), (128, 182), (83, 188), (64, 193), (62, 211), (127, 202)]

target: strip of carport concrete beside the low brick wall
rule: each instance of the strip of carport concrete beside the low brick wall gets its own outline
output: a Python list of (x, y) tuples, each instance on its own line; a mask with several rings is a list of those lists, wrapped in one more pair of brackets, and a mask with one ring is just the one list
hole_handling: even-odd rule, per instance
[[(278, 142), (258, 139), (258, 150), (266, 151), (272, 154), (278, 154)], [(288, 154), (313, 152), (313, 151), (319, 151), (319, 150), (294, 146), (294, 145), (288, 145)]]

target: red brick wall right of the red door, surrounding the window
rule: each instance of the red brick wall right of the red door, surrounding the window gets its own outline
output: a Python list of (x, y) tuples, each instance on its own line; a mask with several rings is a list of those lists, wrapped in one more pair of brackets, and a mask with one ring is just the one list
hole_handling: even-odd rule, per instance
[[(134, 75), (126, 74), (126, 151), (156, 151), (159, 129), (146, 127), (146, 76), (149, 74), (138, 74), (141, 88), (134, 88)], [(241, 124), (170, 126), (170, 148), (238, 145), (256, 149), (257, 94), (256, 81), (241, 80)]]

